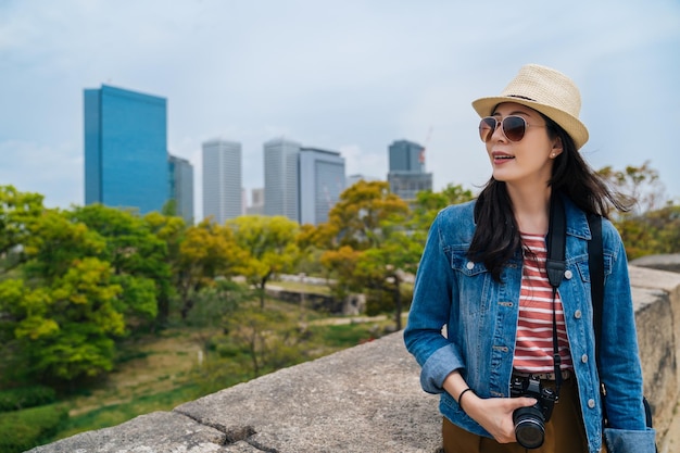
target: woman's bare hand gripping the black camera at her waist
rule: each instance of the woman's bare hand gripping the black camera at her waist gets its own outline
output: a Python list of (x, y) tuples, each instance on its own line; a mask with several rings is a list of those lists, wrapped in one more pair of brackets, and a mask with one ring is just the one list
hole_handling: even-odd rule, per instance
[(513, 412), (537, 403), (533, 398), (524, 397), (481, 399), (473, 392), (465, 393), (462, 400), (463, 411), (489, 431), (499, 443), (517, 442)]

